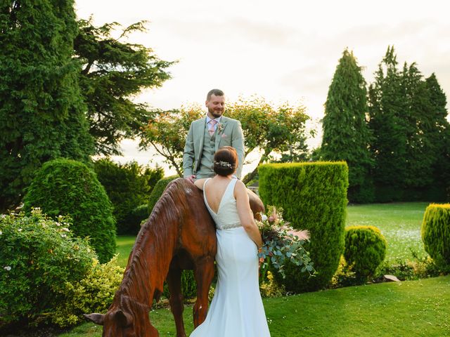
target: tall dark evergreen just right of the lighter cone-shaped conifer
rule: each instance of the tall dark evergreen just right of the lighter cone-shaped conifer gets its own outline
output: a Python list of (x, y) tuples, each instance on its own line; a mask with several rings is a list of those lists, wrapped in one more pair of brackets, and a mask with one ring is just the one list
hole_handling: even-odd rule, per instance
[(368, 90), (371, 150), (375, 159), (373, 180), (378, 201), (401, 199), (406, 178), (408, 121), (397, 65), (394, 47), (389, 46)]

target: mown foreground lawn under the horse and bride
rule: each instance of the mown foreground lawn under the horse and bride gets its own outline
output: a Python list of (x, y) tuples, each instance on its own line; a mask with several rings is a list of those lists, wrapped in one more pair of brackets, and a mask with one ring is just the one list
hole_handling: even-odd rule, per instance
[[(264, 298), (264, 308), (272, 337), (450, 336), (450, 276)], [(175, 336), (168, 309), (150, 319), (160, 336)], [(184, 322), (191, 333), (192, 308)], [(101, 326), (83, 324), (59, 337), (75, 336), (100, 337)]]

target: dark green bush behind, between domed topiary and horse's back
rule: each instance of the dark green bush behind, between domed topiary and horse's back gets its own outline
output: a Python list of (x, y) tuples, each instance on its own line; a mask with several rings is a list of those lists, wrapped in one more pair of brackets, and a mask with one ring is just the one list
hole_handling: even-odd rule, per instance
[(136, 225), (129, 223), (128, 217), (137, 206), (148, 202), (150, 192), (164, 176), (164, 170), (140, 166), (136, 161), (116, 164), (110, 159), (96, 161), (94, 170), (113, 203), (117, 233), (136, 234)]

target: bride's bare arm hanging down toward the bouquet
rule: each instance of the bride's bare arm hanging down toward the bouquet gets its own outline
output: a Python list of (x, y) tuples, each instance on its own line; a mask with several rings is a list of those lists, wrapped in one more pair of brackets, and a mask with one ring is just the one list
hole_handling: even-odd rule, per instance
[(255, 242), (257, 247), (261, 247), (262, 238), (259, 233), (258, 226), (255, 223), (255, 219), (253, 218), (252, 209), (250, 209), (247, 188), (245, 188), (244, 183), (240, 180), (236, 182), (234, 197), (236, 198), (236, 206), (238, 207), (240, 224), (244, 227), (245, 232), (247, 232), (248, 236), (253, 240), (253, 242)]

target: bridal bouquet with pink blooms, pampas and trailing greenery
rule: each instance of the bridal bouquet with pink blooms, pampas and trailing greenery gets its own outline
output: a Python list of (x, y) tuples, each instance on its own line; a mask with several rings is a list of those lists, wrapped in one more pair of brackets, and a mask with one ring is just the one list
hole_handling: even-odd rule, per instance
[(286, 277), (283, 269), (286, 262), (302, 266), (302, 272), (314, 275), (314, 267), (309, 258), (309, 252), (303, 248), (309, 240), (307, 230), (296, 231), (285, 222), (282, 217), (282, 209), (269, 206), (269, 216), (262, 214), (262, 220), (256, 221), (262, 236), (262, 248), (258, 251), (259, 263), (261, 263), (262, 278), (266, 275), (271, 264), (283, 279)]

